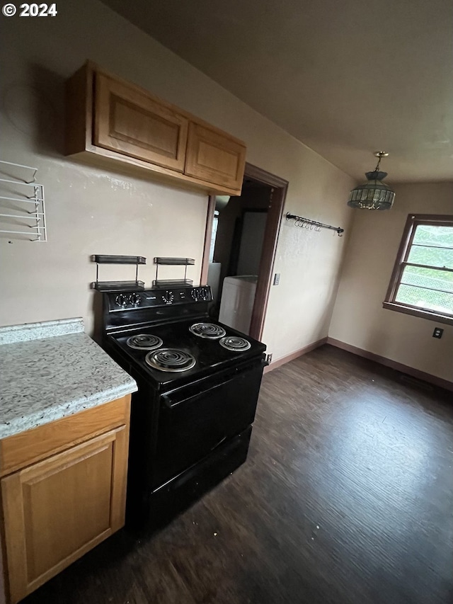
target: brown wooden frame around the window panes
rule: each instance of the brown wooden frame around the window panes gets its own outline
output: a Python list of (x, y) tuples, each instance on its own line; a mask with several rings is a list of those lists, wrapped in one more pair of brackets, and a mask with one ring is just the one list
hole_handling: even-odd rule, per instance
[[(411, 304), (406, 304), (404, 302), (396, 302), (395, 300), (396, 292), (398, 292), (398, 287), (401, 283), (403, 270), (407, 266), (406, 263), (408, 260), (409, 253), (411, 251), (413, 238), (415, 236), (415, 229), (416, 227), (418, 227), (419, 224), (434, 225), (436, 227), (453, 227), (453, 215), (408, 215), (406, 225), (403, 230), (403, 237), (401, 237), (401, 243), (399, 244), (398, 253), (396, 254), (394, 270), (391, 273), (389, 287), (387, 289), (384, 302), (382, 302), (382, 307), (389, 310), (396, 310), (396, 312), (412, 314), (415, 317), (423, 317), (423, 319), (430, 319), (431, 321), (437, 321), (438, 323), (446, 323), (448, 325), (453, 325), (453, 314), (443, 314), (434, 310), (424, 309), (418, 306), (412, 306)], [(452, 270), (453, 272), (453, 269), (447, 270)]]

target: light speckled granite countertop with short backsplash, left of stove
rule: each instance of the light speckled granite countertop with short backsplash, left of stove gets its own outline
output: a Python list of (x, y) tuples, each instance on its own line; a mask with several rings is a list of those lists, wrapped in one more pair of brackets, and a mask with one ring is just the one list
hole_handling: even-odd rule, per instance
[(137, 390), (82, 319), (0, 327), (0, 383), (0, 438)]

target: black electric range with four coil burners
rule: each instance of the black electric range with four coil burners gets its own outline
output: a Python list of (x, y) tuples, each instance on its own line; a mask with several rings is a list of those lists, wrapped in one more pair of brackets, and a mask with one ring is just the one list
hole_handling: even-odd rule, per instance
[(246, 460), (265, 345), (208, 316), (210, 287), (103, 294), (132, 395), (127, 522), (161, 525)]

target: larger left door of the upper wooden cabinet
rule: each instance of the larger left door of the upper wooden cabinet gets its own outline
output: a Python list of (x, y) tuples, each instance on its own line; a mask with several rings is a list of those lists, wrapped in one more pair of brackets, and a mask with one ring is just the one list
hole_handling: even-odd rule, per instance
[(188, 119), (139, 91), (96, 74), (93, 142), (182, 172)]

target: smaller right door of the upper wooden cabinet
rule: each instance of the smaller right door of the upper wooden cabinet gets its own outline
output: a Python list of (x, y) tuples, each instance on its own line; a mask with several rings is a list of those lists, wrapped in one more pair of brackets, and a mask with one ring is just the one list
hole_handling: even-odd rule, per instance
[(207, 127), (190, 122), (185, 174), (241, 189), (246, 147)]

